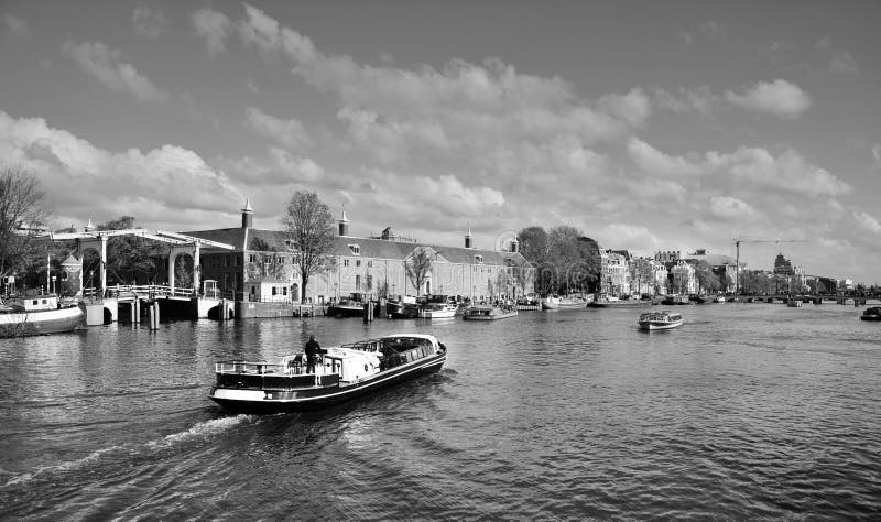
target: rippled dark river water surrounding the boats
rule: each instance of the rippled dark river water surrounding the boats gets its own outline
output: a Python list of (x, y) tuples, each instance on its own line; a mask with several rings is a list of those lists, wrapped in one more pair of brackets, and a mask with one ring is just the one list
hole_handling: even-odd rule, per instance
[[(0, 505), (31, 520), (878, 519), (881, 325), (860, 308), (252, 319), (0, 339)], [(444, 369), (323, 413), (235, 415), (213, 363), (393, 331)]]

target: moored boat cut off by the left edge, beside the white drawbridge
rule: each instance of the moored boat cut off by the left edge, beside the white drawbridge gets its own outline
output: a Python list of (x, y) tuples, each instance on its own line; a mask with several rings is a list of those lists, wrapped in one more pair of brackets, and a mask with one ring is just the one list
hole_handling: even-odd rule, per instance
[(73, 331), (85, 318), (85, 305), (59, 306), (56, 295), (10, 298), (0, 304), (0, 337)]

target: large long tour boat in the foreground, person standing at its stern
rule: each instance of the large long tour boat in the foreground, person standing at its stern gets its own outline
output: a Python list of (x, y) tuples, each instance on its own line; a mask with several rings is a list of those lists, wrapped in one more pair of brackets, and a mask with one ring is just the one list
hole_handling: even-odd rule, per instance
[(217, 362), (208, 398), (240, 412), (318, 410), (436, 372), (447, 359), (444, 344), (425, 334), (389, 335), (322, 351), (312, 372), (303, 354), (279, 363)]

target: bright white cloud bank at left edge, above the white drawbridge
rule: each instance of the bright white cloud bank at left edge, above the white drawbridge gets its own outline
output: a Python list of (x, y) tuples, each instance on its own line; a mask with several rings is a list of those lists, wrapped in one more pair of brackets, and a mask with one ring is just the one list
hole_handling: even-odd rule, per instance
[[(162, 145), (110, 152), (41, 118), (12, 118), (0, 111), (0, 157), (33, 172), (56, 213), (69, 224), (88, 217), (122, 215), (139, 221), (185, 222), (194, 213), (226, 215), (243, 200), (235, 184), (193, 151)], [(95, 216), (95, 209), (107, 213)]]

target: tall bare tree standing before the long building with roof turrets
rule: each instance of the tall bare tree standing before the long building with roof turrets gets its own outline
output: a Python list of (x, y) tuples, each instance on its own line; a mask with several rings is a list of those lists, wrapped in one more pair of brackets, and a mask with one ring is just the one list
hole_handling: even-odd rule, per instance
[(330, 269), (334, 258), (334, 217), (314, 192), (297, 191), (282, 217), (294, 270), (300, 272), (300, 298), (306, 300), (309, 278)]

